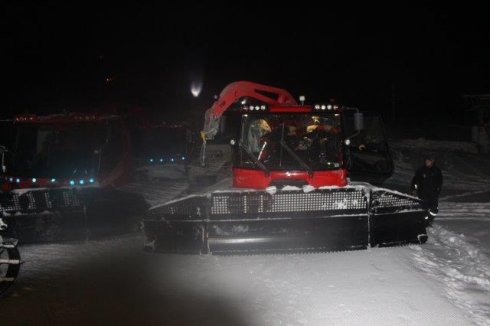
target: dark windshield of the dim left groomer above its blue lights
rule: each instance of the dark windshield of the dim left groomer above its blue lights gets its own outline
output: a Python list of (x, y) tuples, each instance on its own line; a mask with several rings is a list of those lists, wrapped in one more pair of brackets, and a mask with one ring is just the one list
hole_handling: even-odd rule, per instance
[(105, 124), (21, 125), (14, 145), (14, 175), (40, 178), (94, 176), (105, 143)]

